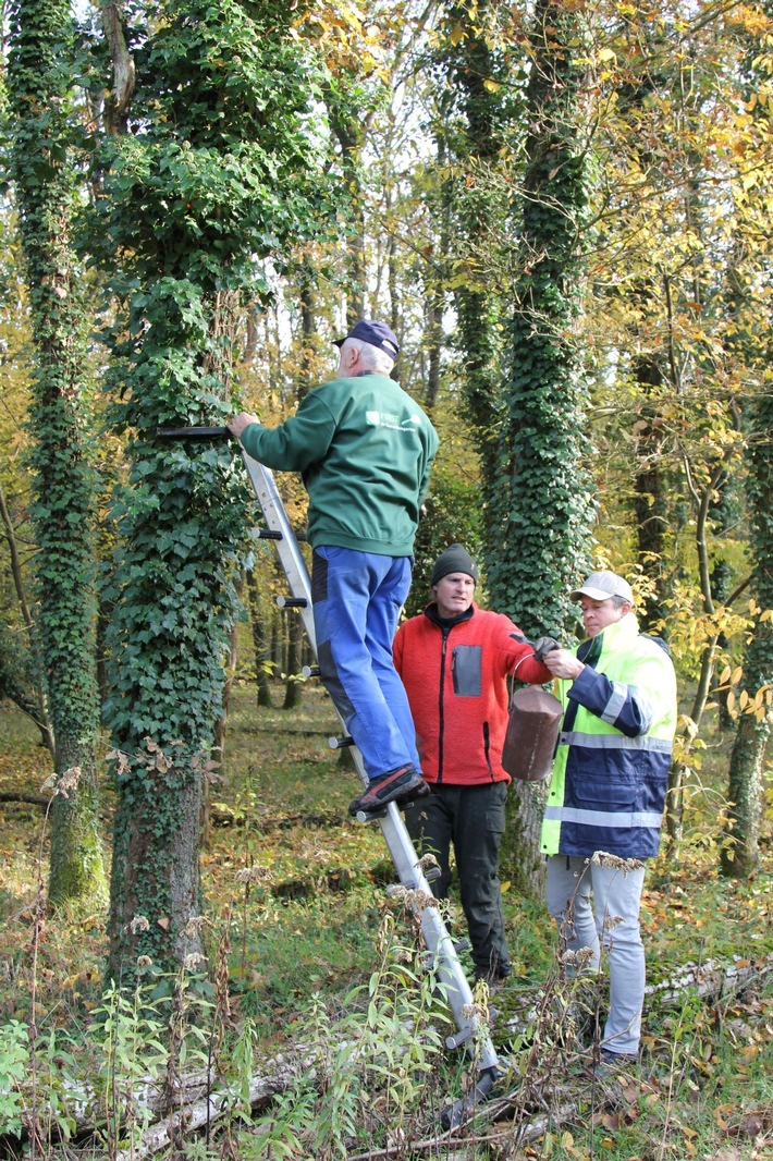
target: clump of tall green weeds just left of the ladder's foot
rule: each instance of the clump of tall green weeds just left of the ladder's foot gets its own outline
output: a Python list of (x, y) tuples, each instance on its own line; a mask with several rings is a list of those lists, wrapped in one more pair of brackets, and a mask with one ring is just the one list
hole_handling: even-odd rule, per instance
[[(331, 1010), (319, 994), (304, 1014), (303, 1075), (239, 1141), (241, 1158), (341, 1159), (352, 1149), (404, 1155), (426, 1132), (447, 1079), (443, 989), (392, 915), (377, 939), (378, 966)], [(407, 1155), (407, 1154), (405, 1154)]]

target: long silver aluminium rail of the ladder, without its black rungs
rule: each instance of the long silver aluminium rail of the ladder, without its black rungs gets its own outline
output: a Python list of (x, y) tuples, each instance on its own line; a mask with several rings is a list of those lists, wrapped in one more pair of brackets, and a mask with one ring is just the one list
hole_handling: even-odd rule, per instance
[[(276, 551), (290, 585), (290, 592), (294, 597), (306, 600), (305, 607), (301, 608), (299, 612), (313, 655), (317, 657), (311, 583), (306, 562), (298, 548), (273, 473), (258, 460), (253, 460), (244, 449), (241, 454), (263, 519), (270, 532), (280, 534), (280, 539), (276, 541)], [(345, 728), (338, 709), (335, 713), (341, 727)], [(362, 784), (367, 786), (368, 776), (362, 763), (362, 755), (356, 747), (352, 748), (352, 756)], [(416, 849), (395, 802), (389, 803), (384, 816), (378, 819), (378, 824), (400, 885), (406, 890), (418, 890), (425, 896), (432, 896), (432, 888), (424, 875)], [(458, 1037), (454, 1038), (453, 1046), (467, 1044), (470, 1052), (475, 1051), (481, 1070), (494, 1068), (498, 1063), (497, 1053), (487, 1032), (484, 1030), (482, 1033), (477, 1016), (471, 1015), (472, 991), (440, 911), (436, 907), (424, 907), (418, 903), (412, 906), (412, 910), (421, 924), (427, 947), (436, 958), (438, 976), (440, 982), (446, 986), (447, 1000), (460, 1030)]]

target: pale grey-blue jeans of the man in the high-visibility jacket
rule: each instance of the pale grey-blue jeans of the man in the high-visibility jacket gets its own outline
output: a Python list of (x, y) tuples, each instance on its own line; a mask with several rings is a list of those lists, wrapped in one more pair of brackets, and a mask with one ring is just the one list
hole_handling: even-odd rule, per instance
[[(562, 945), (590, 947), (586, 971), (598, 972), (600, 947), (607, 952), (609, 1015), (602, 1046), (609, 1052), (638, 1052), (644, 1007), (644, 946), (638, 913), (644, 867), (623, 874), (566, 854), (548, 858), (547, 904), (558, 924)], [(591, 895), (593, 901), (591, 902)]]

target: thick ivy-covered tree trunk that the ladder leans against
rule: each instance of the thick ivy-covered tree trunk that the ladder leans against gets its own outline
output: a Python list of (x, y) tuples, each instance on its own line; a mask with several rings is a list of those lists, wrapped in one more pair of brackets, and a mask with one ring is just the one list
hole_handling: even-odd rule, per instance
[(308, 228), (313, 168), (287, 6), (168, 0), (145, 13), (130, 131), (103, 143), (97, 205), (115, 251), (103, 255), (118, 304), (111, 414), (130, 435), (107, 706), (118, 791), (109, 971), (123, 979), (201, 953), (202, 787), (246, 533), (234, 448), (157, 430), (232, 412), (237, 312), (260, 290), (255, 259)]

